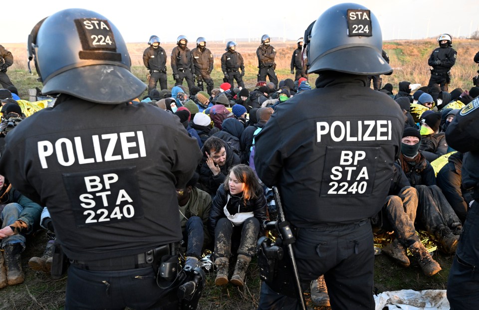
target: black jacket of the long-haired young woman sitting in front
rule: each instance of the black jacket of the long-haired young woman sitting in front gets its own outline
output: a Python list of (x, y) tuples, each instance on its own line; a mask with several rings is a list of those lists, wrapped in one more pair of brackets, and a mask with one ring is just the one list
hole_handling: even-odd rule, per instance
[[(226, 217), (223, 208), (227, 205), (228, 212), (231, 215), (235, 215), (238, 212), (253, 212), (254, 217), (258, 219), (259, 223), (263, 223), (266, 217), (266, 197), (264, 197), (263, 190), (258, 188), (256, 192), (256, 199), (249, 199), (244, 203), (243, 199), (239, 195), (231, 195), (228, 201), (229, 192), (225, 189), (225, 185), (221, 184), (218, 188), (215, 198), (213, 199), (213, 206), (210, 211), (210, 223), (208, 229), (212, 236), (215, 235), (215, 228), (220, 218)], [(239, 207), (239, 211), (238, 211)], [(263, 232), (262, 225), (260, 225), (260, 235)]]

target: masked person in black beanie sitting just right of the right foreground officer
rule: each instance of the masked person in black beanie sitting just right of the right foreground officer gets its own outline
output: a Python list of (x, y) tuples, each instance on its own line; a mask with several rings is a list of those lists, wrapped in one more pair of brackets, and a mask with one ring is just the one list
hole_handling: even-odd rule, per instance
[[(422, 226), (438, 239), (446, 253), (453, 254), (458, 246), (461, 220), (436, 185), (433, 167), (419, 152), (420, 142), (417, 129), (405, 128), (399, 163), (411, 186), (418, 191), (418, 216)], [(411, 220), (415, 222), (415, 219)]]

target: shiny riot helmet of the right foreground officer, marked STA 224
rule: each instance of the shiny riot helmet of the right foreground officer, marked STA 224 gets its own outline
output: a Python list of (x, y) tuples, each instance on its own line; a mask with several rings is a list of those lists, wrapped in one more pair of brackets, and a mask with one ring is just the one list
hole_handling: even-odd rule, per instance
[(360, 75), (391, 74), (382, 57), (381, 27), (376, 16), (356, 3), (328, 8), (314, 22), (308, 38), (308, 73), (333, 70)]

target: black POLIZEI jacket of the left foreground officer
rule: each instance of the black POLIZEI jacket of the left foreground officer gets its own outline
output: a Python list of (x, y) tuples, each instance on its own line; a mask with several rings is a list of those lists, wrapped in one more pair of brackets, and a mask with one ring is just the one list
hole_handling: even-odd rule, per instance
[(135, 255), (182, 239), (175, 189), (201, 154), (170, 113), (61, 95), (5, 140), (0, 173), (48, 206), (68, 258)]

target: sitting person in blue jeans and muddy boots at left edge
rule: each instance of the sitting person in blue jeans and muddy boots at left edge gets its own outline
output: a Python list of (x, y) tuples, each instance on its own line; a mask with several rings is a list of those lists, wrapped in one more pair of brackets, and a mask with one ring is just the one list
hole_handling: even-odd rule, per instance
[(15, 190), (0, 175), (0, 289), (24, 281), (21, 252), (25, 250), (25, 235), (31, 234), (40, 223), (42, 207)]

